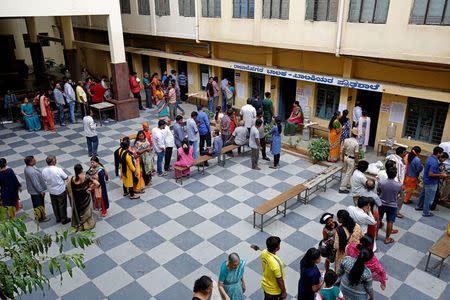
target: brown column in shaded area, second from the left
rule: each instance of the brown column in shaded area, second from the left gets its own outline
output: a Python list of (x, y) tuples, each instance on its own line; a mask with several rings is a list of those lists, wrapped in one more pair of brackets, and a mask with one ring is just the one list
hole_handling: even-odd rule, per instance
[(72, 75), (72, 80), (76, 82), (81, 80), (81, 67), (77, 49), (73, 44), (75, 38), (73, 36), (72, 17), (63, 16), (60, 18), (64, 37), (64, 60), (66, 61), (66, 65)]

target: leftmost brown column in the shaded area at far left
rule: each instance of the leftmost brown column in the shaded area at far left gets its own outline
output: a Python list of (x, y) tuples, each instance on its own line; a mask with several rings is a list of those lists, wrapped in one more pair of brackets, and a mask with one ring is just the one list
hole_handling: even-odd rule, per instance
[(33, 62), (34, 75), (36, 81), (45, 82), (45, 63), (44, 54), (42, 52), (41, 43), (39, 43), (37, 38), (36, 20), (34, 17), (25, 18), (27, 25), (28, 36), (30, 37), (30, 54), (31, 60)]

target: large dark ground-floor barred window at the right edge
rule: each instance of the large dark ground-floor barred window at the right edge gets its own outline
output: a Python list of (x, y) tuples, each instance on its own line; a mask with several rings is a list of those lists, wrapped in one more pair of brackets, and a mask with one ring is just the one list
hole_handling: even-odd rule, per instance
[(442, 140), (448, 103), (408, 98), (403, 137), (439, 144)]

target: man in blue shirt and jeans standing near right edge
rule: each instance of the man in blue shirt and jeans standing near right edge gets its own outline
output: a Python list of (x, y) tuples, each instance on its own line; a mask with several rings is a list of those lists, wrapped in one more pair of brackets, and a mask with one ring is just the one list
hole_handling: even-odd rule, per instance
[(435, 147), (433, 155), (429, 156), (425, 162), (423, 171), (423, 188), (420, 192), (419, 200), (417, 202), (416, 210), (423, 210), (424, 217), (432, 217), (430, 213), (430, 206), (433, 203), (436, 195), (439, 177), (446, 178), (446, 173), (439, 173), (439, 158), (442, 156), (444, 149)]

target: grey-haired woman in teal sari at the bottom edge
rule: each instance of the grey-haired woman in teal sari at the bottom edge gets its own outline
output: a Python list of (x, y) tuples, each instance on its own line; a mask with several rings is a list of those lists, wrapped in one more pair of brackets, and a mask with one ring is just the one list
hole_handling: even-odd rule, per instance
[(244, 281), (246, 261), (240, 259), (237, 253), (228, 255), (228, 260), (222, 263), (219, 273), (219, 292), (222, 299), (243, 300), (247, 289)]

